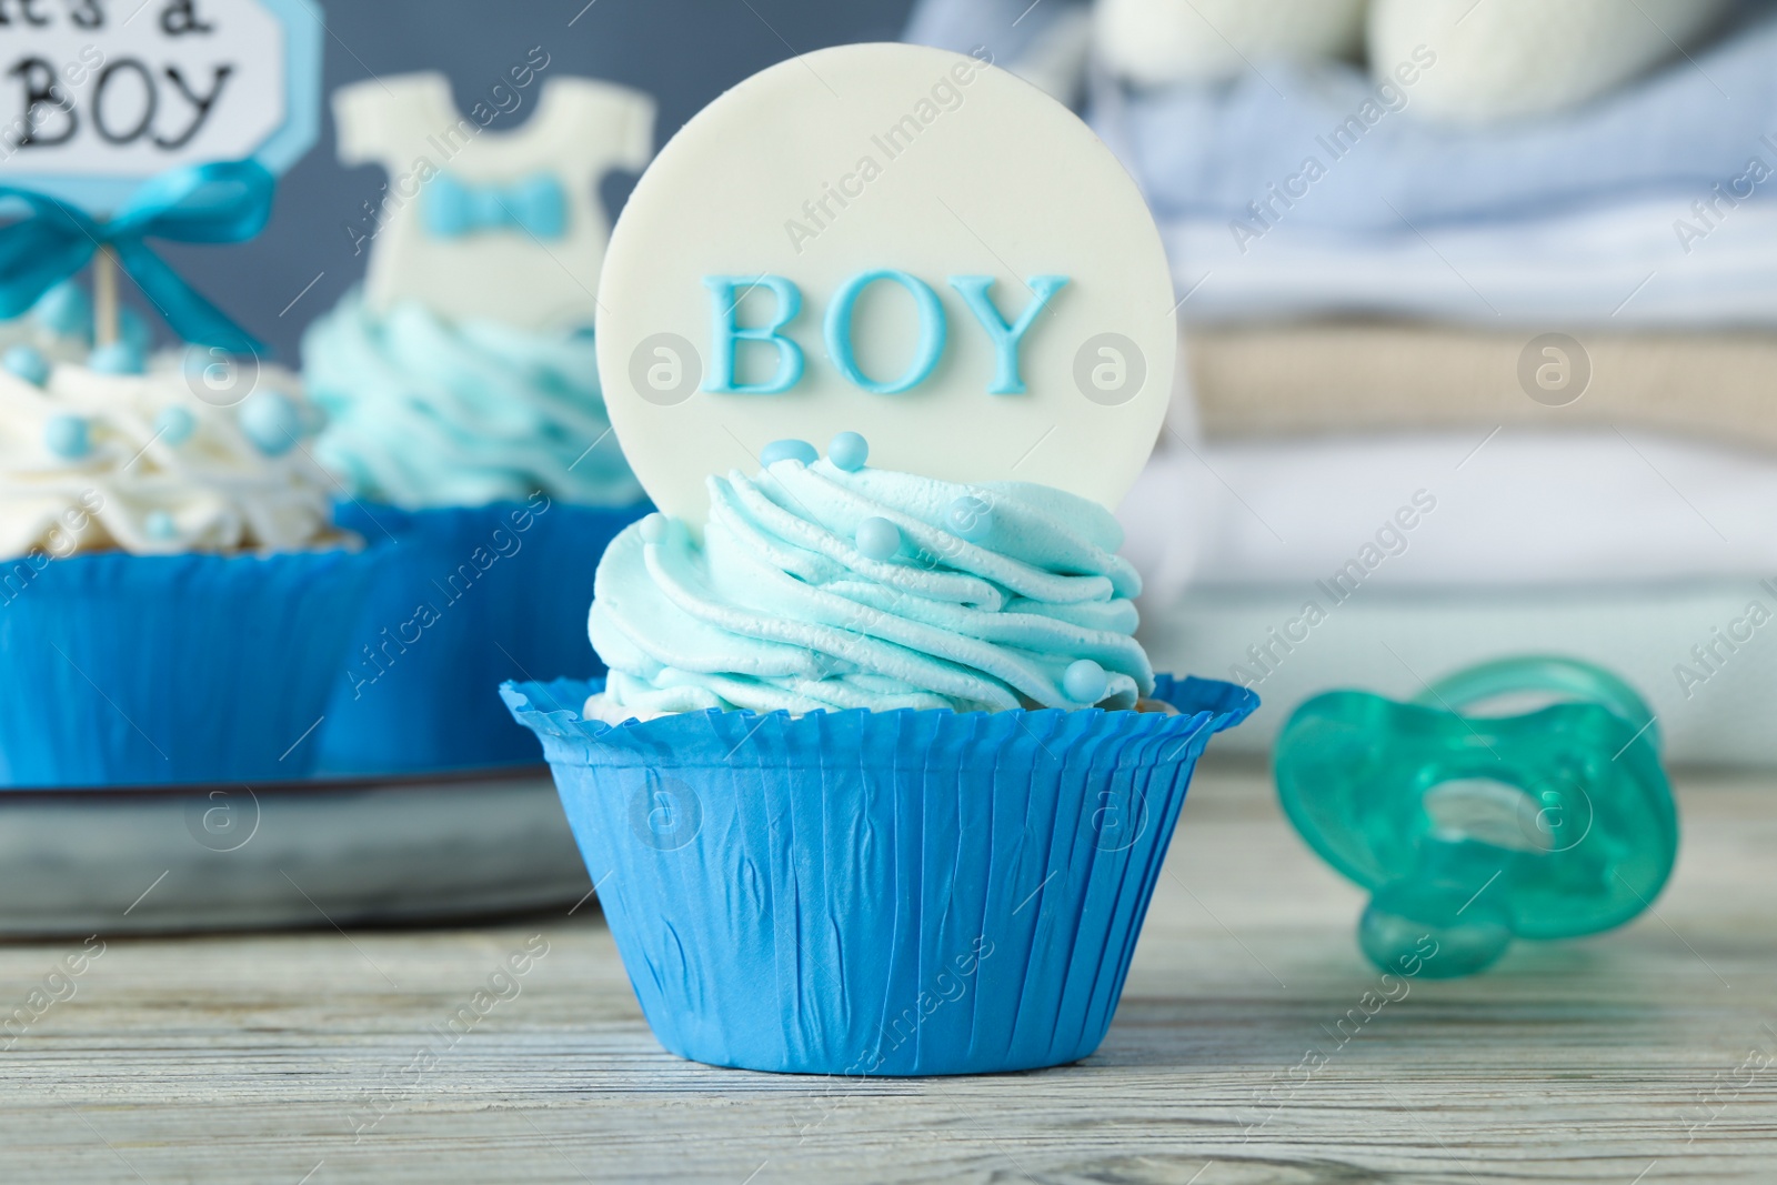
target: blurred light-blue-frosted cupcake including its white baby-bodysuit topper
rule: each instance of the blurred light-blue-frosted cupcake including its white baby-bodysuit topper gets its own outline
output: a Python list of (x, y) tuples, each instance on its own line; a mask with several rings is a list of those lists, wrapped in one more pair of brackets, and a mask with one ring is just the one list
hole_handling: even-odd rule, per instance
[[(599, 554), (647, 510), (611, 435), (592, 322), (610, 236), (599, 181), (652, 151), (652, 101), (538, 78), (514, 131), (458, 110), (442, 75), (334, 94), (339, 155), (389, 183), (359, 227), (366, 281), (309, 327), (341, 526), (400, 540), (357, 624), (323, 728), (329, 773), (535, 760), (506, 679), (595, 670)], [(442, 130), (442, 131), (441, 131)]]

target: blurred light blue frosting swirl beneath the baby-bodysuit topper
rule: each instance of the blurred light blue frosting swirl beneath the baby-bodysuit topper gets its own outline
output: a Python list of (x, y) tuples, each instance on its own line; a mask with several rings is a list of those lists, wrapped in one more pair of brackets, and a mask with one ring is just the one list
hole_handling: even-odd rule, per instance
[(407, 302), (377, 314), (354, 291), (302, 339), (327, 412), (316, 457), (352, 494), (409, 510), (641, 499), (599, 394), (592, 336), (450, 323)]

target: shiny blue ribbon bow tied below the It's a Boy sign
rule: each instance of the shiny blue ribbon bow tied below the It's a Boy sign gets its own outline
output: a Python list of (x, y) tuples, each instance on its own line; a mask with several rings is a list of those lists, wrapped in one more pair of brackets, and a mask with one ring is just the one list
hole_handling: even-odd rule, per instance
[(110, 219), (0, 185), (30, 215), (0, 227), (0, 318), (20, 316), (55, 284), (110, 247), (117, 263), (185, 341), (235, 354), (267, 354), (263, 343), (187, 284), (142, 240), (238, 243), (265, 229), (277, 181), (254, 160), (172, 169), (149, 178)]

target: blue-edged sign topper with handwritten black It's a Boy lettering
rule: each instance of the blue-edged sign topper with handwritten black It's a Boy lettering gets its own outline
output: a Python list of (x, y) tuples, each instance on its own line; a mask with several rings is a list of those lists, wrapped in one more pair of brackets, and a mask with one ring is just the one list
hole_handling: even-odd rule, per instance
[(0, 0), (0, 185), (108, 213), (151, 176), (295, 163), (320, 131), (309, 0)]

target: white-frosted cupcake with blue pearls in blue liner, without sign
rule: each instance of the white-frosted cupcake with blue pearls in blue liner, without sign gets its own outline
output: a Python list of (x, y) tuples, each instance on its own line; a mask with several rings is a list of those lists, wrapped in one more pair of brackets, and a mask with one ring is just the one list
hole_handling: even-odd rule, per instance
[(377, 556), (295, 377), (219, 389), (130, 339), (0, 362), (0, 783), (307, 776)]

